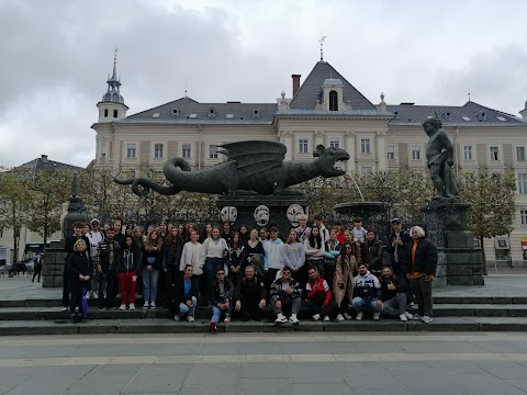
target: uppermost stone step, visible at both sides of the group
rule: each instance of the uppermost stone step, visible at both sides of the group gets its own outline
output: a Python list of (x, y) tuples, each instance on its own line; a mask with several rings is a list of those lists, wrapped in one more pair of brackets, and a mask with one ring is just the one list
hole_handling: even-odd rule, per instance
[[(119, 301), (115, 300), (114, 304)], [(0, 300), (1, 307), (53, 307), (60, 306), (61, 298), (27, 298), (27, 300)], [(90, 300), (90, 304), (97, 304), (96, 300)], [(143, 300), (138, 298), (136, 305), (141, 306)], [(202, 298), (198, 304), (205, 304), (205, 300)], [(527, 304), (527, 291), (526, 296), (434, 296), (435, 305), (442, 304)], [(165, 300), (158, 297), (157, 305), (165, 306)]]

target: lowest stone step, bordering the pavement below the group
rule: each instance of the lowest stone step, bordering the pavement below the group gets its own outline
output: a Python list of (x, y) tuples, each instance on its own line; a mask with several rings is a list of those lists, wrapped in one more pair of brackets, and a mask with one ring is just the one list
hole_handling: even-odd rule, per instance
[[(71, 335), (71, 334), (188, 334), (208, 332), (209, 320), (195, 323), (173, 321), (162, 318), (152, 319), (93, 319), (85, 324), (69, 320), (3, 320), (0, 321), (0, 336), (12, 335)], [(527, 331), (526, 317), (437, 317), (430, 324), (421, 321), (402, 323), (396, 319), (373, 321), (347, 320), (343, 323), (313, 323), (301, 320), (300, 325), (274, 325), (272, 321), (249, 321), (220, 324), (217, 331), (242, 332), (288, 332), (288, 331)]]

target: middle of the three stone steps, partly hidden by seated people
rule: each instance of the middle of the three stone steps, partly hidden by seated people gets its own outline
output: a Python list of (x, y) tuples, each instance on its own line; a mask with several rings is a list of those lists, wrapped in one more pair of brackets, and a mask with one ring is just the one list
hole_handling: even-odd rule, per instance
[[(408, 308), (408, 312), (413, 312)], [(0, 320), (60, 320), (69, 319), (69, 312), (60, 312), (60, 307), (1, 307)], [(368, 315), (368, 313), (367, 313)], [(90, 319), (152, 319), (152, 318), (171, 318), (170, 313), (165, 307), (156, 309), (143, 309), (141, 306), (135, 312), (121, 312), (116, 308), (99, 311), (97, 307), (89, 308)], [(211, 311), (206, 306), (198, 306), (195, 311), (198, 318), (209, 318)], [(302, 309), (301, 318), (310, 319), (306, 309)], [(435, 317), (527, 317), (527, 304), (438, 304), (434, 306)], [(262, 317), (273, 318), (272, 309), (266, 307)]]

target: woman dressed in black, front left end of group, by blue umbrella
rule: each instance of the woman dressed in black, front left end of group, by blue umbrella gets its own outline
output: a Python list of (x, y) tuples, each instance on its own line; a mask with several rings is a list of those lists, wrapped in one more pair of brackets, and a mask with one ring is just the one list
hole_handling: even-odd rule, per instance
[(82, 287), (90, 283), (91, 264), (87, 252), (87, 244), (83, 239), (78, 239), (72, 247), (74, 251), (68, 256), (68, 283), (71, 291), (69, 311), (71, 321), (76, 315), (80, 314), (82, 303)]

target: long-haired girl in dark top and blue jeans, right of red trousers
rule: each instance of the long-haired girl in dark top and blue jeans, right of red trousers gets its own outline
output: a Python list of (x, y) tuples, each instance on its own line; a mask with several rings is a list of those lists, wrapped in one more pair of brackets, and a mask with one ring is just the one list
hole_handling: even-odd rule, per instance
[(159, 271), (162, 262), (162, 240), (156, 229), (152, 229), (143, 247), (143, 308), (156, 308)]

